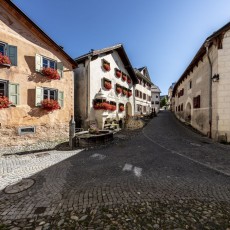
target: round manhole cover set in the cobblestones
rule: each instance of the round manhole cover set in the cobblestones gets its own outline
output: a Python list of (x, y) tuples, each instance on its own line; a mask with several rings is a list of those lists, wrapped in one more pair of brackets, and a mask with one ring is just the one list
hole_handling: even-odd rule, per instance
[(16, 184), (6, 186), (4, 189), (4, 192), (7, 194), (19, 193), (19, 192), (25, 191), (26, 189), (32, 187), (34, 183), (35, 183), (35, 180), (30, 179), (30, 178), (29, 179), (25, 178)]

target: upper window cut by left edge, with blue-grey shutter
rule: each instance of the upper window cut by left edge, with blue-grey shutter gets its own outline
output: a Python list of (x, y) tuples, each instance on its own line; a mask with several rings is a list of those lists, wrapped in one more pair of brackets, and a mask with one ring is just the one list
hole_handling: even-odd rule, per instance
[(0, 42), (0, 53), (9, 57), (12, 66), (17, 66), (17, 46)]

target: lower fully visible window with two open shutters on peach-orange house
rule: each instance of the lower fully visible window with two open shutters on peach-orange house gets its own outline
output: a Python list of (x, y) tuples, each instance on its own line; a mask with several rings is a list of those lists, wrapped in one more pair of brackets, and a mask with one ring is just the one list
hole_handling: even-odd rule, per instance
[(40, 106), (44, 99), (57, 100), (61, 107), (64, 106), (64, 92), (58, 89), (36, 87), (35, 106)]

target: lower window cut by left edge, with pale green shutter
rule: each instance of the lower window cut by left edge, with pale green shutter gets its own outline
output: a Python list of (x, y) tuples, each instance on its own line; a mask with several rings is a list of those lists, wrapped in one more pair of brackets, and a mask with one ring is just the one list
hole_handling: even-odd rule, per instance
[(0, 80), (0, 96), (8, 97), (13, 105), (19, 104), (19, 84)]

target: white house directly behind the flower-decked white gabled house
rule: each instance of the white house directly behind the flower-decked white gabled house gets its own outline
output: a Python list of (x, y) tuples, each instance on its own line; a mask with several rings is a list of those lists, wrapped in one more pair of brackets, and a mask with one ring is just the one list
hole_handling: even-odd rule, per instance
[(151, 112), (151, 82), (147, 67), (134, 69), (138, 84), (135, 86), (135, 114)]

